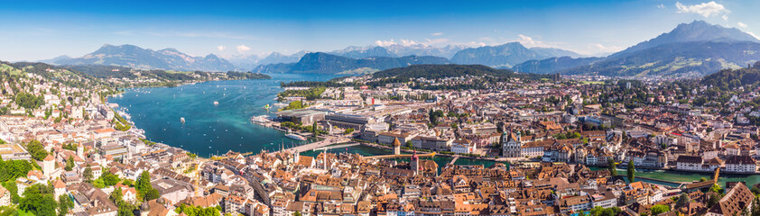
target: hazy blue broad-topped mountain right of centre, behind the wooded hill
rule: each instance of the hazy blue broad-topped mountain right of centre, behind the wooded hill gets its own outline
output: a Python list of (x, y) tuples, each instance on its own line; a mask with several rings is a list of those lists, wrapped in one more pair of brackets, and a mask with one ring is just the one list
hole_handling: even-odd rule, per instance
[(519, 42), (505, 43), (499, 46), (485, 46), (479, 48), (462, 49), (451, 62), (465, 65), (486, 65), (491, 67), (512, 67), (526, 60), (548, 58), (531, 49), (527, 49)]

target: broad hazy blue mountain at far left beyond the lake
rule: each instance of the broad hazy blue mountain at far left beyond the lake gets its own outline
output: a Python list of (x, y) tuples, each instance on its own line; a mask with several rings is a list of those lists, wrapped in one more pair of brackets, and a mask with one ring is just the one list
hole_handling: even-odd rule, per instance
[(228, 71), (236, 67), (223, 58), (209, 54), (193, 57), (177, 49), (142, 49), (134, 45), (103, 45), (80, 58), (56, 60), (59, 65), (111, 65), (137, 69)]

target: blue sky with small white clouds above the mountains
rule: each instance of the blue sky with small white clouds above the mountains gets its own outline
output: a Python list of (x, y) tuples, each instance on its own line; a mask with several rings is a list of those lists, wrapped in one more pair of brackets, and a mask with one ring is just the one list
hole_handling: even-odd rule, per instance
[(239, 58), (519, 41), (598, 55), (694, 20), (760, 34), (756, 8), (760, 1), (14, 1), (0, 5), (0, 60), (81, 57), (103, 44)]

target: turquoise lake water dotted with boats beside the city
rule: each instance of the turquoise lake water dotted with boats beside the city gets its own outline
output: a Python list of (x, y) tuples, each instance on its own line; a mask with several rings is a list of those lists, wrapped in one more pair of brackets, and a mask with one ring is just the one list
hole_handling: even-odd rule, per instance
[[(224, 154), (227, 150), (258, 153), (303, 144), (288, 139), (279, 130), (249, 121), (252, 116), (270, 114), (262, 107), (276, 103), (283, 91), (280, 82), (329, 80), (324, 75), (271, 75), (268, 80), (212, 81), (177, 87), (127, 89), (121, 97), (108, 98), (127, 109), (137, 128), (156, 142), (184, 148), (202, 157)], [(218, 105), (214, 102), (218, 101)], [(271, 112), (276, 111), (272, 109)], [(180, 118), (185, 118), (181, 123)]]

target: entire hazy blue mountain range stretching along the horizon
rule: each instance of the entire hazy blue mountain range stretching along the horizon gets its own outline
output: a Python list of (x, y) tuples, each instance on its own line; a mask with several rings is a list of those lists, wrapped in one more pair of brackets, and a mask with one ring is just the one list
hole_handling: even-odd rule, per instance
[(193, 57), (177, 49), (103, 45), (83, 57), (42, 60), (57, 65), (109, 65), (166, 70), (252, 70), (260, 73), (366, 74), (421, 64), (484, 65), (516, 72), (604, 76), (704, 76), (760, 60), (760, 40), (736, 28), (704, 21), (681, 23), (672, 31), (607, 57), (585, 57), (554, 48), (526, 48), (519, 42), (468, 47), (423, 44), (351, 46), (329, 52), (219, 58)]

